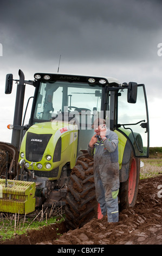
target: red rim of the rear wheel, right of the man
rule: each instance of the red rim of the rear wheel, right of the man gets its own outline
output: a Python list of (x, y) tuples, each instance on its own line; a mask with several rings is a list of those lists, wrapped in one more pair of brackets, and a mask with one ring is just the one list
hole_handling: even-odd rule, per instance
[(136, 187), (136, 178), (137, 178), (137, 166), (135, 159), (132, 159), (131, 163), (131, 170), (129, 173), (129, 184), (128, 184), (128, 202), (129, 204), (132, 203), (135, 193), (135, 187)]

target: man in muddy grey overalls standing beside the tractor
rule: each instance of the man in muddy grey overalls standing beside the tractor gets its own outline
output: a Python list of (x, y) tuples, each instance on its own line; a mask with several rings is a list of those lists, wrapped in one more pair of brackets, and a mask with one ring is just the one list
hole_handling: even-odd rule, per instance
[(108, 222), (118, 222), (118, 136), (106, 127), (104, 119), (96, 119), (92, 127), (95, 135), (88, 144), (88, 153), (94, 157), (96, 199)]

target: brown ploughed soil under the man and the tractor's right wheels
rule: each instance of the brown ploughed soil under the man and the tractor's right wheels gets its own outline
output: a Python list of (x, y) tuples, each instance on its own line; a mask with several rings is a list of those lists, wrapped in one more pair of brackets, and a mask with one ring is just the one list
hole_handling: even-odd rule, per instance
[(93, 218), (75, 230), (67, 230), (64, 222), (51, 224), (3, 244), (162, 245), (162, 175), (140, 180), (136, 205), (120, 212), (118, 223)]

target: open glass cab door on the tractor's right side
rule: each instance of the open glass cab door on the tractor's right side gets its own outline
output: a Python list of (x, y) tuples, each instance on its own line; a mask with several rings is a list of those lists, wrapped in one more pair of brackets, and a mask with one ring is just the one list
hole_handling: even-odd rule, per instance
[(135, 157), (148, 157), (149, 123), (144, 84), (136, 84), (135, 99), (128, 99), (129, 87), (118, 92), (117, 127), (128, 138)]

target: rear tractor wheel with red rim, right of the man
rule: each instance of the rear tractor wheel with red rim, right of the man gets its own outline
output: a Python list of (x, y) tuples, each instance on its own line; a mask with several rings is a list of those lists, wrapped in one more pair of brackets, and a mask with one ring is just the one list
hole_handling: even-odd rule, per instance
[(125, 182), (120, 183), (119, 189), (119, 209), (120, 211), (134, 207), (139, 186), (140, 175), (140, 159), (135, 158), (133, 153), (131, 154), (131, 161), (129, 164), (128, 179)]

